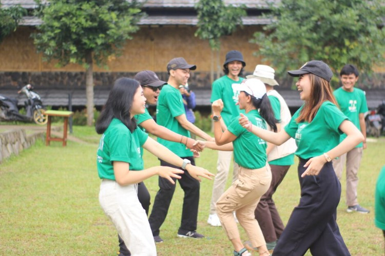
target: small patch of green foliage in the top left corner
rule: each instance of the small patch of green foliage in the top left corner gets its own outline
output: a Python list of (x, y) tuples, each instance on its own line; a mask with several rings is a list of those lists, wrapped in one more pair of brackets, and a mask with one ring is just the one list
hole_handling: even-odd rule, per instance
[(27, 10), (20, 5), (3, 9), (0, 3), (0, 43), (16, 30), (18, 23), (26, 14)]

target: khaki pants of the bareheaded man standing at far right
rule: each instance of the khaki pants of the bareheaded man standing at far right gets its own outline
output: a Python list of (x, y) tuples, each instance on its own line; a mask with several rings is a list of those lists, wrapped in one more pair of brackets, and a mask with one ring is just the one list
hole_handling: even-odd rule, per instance
[(333, 168), (339, 180), (342, 178), (343, 165), (346, 163), (346, 204), (348, 206), (358, 204), (357, 173), (361, 163), (362, 151), (362, 147), (355, 147), (353, 150), (343, 154), (338, 159), (333, 160)]

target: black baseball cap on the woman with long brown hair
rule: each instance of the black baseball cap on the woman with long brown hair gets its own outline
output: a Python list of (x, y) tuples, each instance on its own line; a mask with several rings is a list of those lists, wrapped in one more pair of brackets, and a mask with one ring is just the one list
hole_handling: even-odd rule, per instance
[(321, 60), (307, 61), (299, 70), (287, 71), (291, 76), (300, 76), (302, 74), (312, 73), (330, 82), (333, 72), (329, 66)]

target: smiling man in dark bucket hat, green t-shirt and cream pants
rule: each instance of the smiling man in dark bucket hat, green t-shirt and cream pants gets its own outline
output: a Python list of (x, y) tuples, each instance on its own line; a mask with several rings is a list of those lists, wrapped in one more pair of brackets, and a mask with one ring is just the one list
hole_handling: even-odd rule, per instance
[[(226, 126), (239, 116), (238, 91), (233, 90), (233, 83), (241, 83), (244, 78), (239, 77), (242, 74), (246, 62), (243, 60), (243, 55), (239, 51), (229, 51), (226, 54), (226, 59), (223, 63), (224, 76), (213, 82), (213, 91), (211, 92), (210, 101), (213, 103), (218, 99), (222, 99), (224, 108), (221, 113), (222, 130), (226, 130)], [(242, 111), (241, 113), (244, 113)], [(215, 211), (215, 204), (225, 190), (227, 176), (230, 168), (230, 162), (233, 156), (232, 151), (218, 151), (217, 175), (214, 179), (213, 195), (211, 196), (210, 211), (207, 223), (211, 226), (221, 226), (221, 222)], [(239, 165), (234, 162), (233, 181), (238, 176)]]

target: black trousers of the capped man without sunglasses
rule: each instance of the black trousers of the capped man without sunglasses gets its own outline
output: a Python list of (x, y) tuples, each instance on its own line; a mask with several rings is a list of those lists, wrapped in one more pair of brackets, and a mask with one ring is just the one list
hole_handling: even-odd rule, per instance
[[(190, 160), (191, 164), (195, 165), (193, 157), (182, 158)], [(162, 160), (161, 165), (181, 169), (179, 166), (169, 164)], [(178, 182), (184, 191), (184, 198), (182, 220), (179, 229), (195, 231), (197, 229), (200, 184), (199, 181), (188, 174), (187, 170), (184, 170), (184, 174), (181, 176), (182, 178), (179, 179)], [(166, 219), (175, 186), (176, 184), (172, 185), (167, 179), (159, 177), (159, 191), (155, 197), (150, 218), (148, 219), (153, 236), (159, 236), (159, 228)]]

